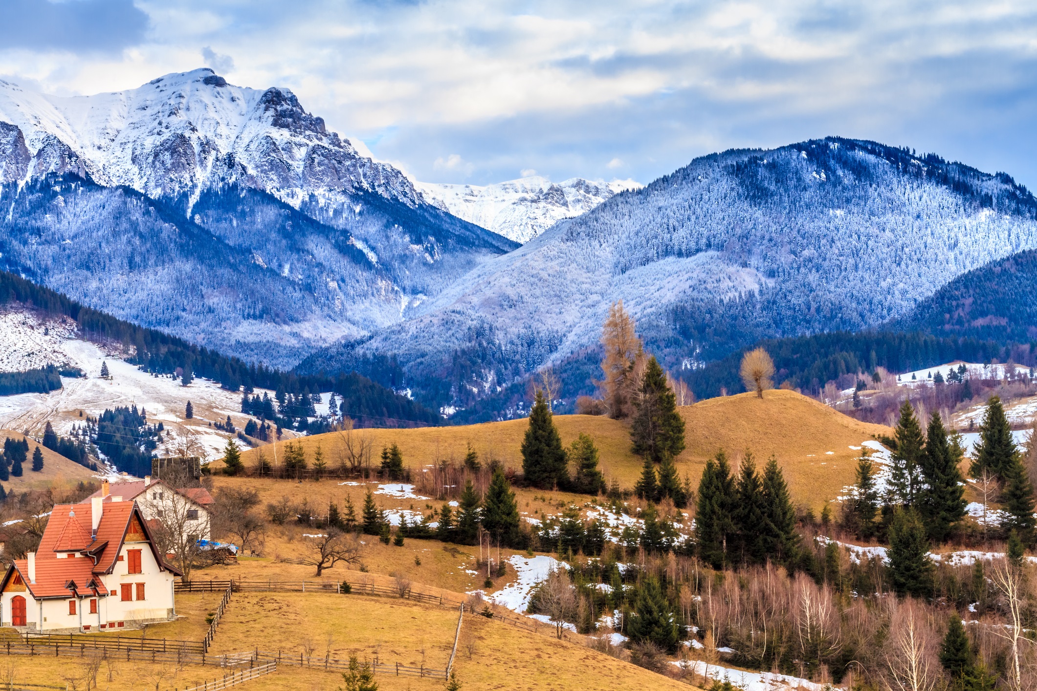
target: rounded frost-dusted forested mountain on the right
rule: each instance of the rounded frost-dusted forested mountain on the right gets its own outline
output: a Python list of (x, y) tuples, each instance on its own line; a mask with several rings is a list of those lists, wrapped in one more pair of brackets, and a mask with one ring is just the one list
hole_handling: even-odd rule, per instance
[(1037, 202), (1004, 174), (829, 138), (703, 156), (485, 262), (421, 314), (314, 355), (395, 354), (470, 403), (598, 337), (623, 299), (671, 370), (762, 338), (901, 317), (957, 276), (1037, 247)]

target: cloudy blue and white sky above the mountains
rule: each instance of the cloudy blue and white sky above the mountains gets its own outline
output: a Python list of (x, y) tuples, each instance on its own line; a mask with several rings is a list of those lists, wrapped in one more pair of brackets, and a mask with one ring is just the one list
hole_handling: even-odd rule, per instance
[(286, 86), (418, 179), (647, 182), (841, 135), (1037, 188), (1032, 0), (0, 0), (0, 79), (56, 94), (209, 66)]

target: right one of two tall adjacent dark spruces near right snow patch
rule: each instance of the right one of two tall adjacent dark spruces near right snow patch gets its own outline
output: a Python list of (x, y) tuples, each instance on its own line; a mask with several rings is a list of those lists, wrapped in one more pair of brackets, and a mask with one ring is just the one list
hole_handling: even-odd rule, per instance
[(922, 473), (925, 486), (919, 496), (919, 511), (929, 539), (944, 542), (953, 527), (965, 517), (964, 478), (958, 463), (961, 447), (947, 438), (938, 412), (933, 412), (926, 430), (925, 462)]

